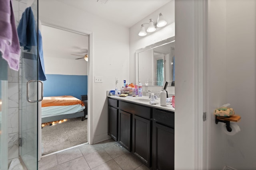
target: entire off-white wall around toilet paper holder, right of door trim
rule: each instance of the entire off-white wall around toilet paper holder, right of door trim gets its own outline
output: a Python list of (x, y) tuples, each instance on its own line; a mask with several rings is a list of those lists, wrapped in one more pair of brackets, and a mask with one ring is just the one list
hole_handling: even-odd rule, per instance
[[(256, 2), (210, 0), (208, 10), (209, 169), (256, 169)], [(234, 136), (214, 123), (214, 109), (225, 103), (242, 117)]]

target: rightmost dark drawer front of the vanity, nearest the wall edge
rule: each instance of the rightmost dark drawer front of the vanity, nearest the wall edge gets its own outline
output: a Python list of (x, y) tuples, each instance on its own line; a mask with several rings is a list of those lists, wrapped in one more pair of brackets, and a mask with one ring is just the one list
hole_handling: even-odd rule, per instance
[(174, 127), (174, 112), (164, 111), (161, 109), (153, 110), (153, 118), (155, 121)]

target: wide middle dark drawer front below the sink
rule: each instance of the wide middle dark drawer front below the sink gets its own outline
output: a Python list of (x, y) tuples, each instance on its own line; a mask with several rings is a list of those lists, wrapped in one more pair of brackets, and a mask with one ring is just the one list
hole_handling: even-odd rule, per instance
[(152, 111), (151, 111), (151, 108), (149, 107), (144, 107), (136, 104), (119, 101), (119, 109), (122, 109), (129, 113), (133, 113), (142, 117), (146, 117), (148, 119), (152, 118)]

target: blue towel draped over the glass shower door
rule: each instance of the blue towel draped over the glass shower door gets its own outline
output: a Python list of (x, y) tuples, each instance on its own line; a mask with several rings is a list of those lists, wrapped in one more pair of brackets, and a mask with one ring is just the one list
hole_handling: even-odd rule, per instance
[[(30, 52), (33, 47), (37, 46), (37, 30), (36, 30), (36, 23), (34, 20), (34, 14), (32, 12), (31, 7), (26, 8), (26, 10), (22, 14), (22, 18), (20, 19), (20, 23), (17, 28), (18, 31), (18, 37), (20, 40), (20, 46), (24, 47), (24, 50), (27, 50), (27, 52)], [(44, 55), (43, 55), (43, 45), (42, 45), (42, 35), (40, 33), (40, 30), (38, 30), (38, 52), (39, 52), (39, 59), (38, 59), (38, 80), (45, 81), (45, 69), (44, 69)], [(23, 58), (30, 59), (30, 60), (36, 60), (37, 59), (37, 53), (33, 52), (28, 53), (30, 55), (23, 55)], [(37, 62), (28, 61), (28, 64), (34, 63), (37, 64)], [(37, 68), (37, 66), (33, 66), (34, 68)], [(31, 70), (28, 69), (28, 72), (26, 72), (26, 78), (29, 78), (30, 80), (34, 79), (34, 76), (31, 76), (32, 74)]]

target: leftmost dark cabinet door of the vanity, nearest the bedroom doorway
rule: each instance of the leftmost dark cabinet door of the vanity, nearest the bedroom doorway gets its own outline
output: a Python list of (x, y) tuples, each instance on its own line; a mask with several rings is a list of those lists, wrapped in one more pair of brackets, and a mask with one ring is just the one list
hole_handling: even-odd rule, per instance
[(108, 106), (108, 135), (117, 141), (118, 135), (118, 109)]

